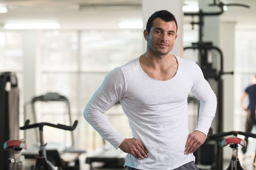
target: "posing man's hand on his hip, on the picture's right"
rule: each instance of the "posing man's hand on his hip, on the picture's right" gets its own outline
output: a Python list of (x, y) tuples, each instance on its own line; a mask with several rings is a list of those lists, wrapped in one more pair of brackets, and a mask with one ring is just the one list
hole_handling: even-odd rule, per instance
[(206, 139), (206, 135), (200, 131), (191, 132), (188, 135), (188, 140), (185, 146), (185, 154), (188, 155), (189, 153), (195, 152), (199, 146), (201, 146)]

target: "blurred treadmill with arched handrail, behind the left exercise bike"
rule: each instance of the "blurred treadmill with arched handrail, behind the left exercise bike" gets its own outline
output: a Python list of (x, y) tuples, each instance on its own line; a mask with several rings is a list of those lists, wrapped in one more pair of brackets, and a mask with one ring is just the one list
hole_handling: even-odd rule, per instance
[[(37, 122), (37, 116), (36, 115), (36, 103), (64, 103), (65, 104), (65, 113), (63, 116), (66, 116), (68, 118), (68, 124), (72, 124), (72, 117), (70, 113), (70, 103), (67, 99), (67, 97), (62, 96), (61, 94), (55, 93), (55, 92), (49, 92), (47, 94), (36, 96), (31, 99), (28, 103), (24, 104), (24, 120), (27, 119), (27, 107), (31, 105), (32, 110), (32, 116), (33, 116), (33, 122)], [(66, 114), (66, 115), (65, 115)], [(70, 145), (67, 145), (65, 143), (48, 143), (47, 146), (45, 146), (47, 159), (52, 162), (52, 164), (56, 166), (61, 166), (63, 164), (69, 164), (74, 162), (75, 167), (79, 167), (79, 155), (81, 153), (86, 153), (84, 150), (76, 150), (74, 149), (74, 134), (73, 131), (70, 131), (71, 133), (71, 143)], [(36, 141), (40, 142), (38, 139), (38, 132), (36, 132)], [(24, 133), (24, 137), (26, 139), (26, 133)], [(33, 159), (35, 158), (35, 150), (38, 149), (38, 146), (30, 146), (26, 152), (23, 152), (26, 159)], [(67, 158), (65, 157), (67, 155)], [(70, 159), (71, 158), (71, 159)]]

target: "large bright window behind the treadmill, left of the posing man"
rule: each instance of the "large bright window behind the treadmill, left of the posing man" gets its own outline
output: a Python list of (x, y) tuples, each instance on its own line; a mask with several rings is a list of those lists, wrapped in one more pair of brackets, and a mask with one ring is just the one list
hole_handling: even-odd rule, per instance
[[(73, 120), (79, 120), (76, 129), (76, 146), (95, 149), (103, 139), (84, 120), (83, 110), (106, 74), (142, 53), (141, 30), (115, 31), (44, 31), (41, 34), (40, 94), (58, 92), (68, 97)], [(58, 106), (58, 107), (57, 107)], [(40, 104), (40, 121), (65, 123), (63, 106)], [(54, 113), (52, 113), (54, 112)], [(129, 135), (129, 124), (120, 106), (106, 113), (116, 129)], [(67, 119), (66, 119), (67, 120)], [(120, 121), (123, 120), (121, 123)], [(118, 122), (118, 124), (116, 124)], [(57, 142), (51, 129), (45, 131), (45, 141)], [(66, 136), (64, 136), (66, 137)], [(65, 140), (65, 138), (62, 138)]]

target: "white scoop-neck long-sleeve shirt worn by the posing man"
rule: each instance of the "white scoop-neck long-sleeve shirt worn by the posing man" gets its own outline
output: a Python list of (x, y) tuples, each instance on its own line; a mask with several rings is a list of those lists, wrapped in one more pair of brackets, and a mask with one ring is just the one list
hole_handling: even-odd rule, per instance
[(84, 118), (115, 148), (124, 141), (104, 117), (118, 100), (129, 119), (133, 138), (148, 150), (148, 157), (128, 154), (125, 166), (143, 170), (175, 169), (195, 161), (185, 155), (188, 138), (188, 95), (200, 100), (195, 130), (207, 135), (216, 111), (216, 96), (195, 62), (176, 57), (177, 73), (166, 81), (150, 78), (140, 67), (139, 57), (117, 67), (105, 78), (84, 110)]

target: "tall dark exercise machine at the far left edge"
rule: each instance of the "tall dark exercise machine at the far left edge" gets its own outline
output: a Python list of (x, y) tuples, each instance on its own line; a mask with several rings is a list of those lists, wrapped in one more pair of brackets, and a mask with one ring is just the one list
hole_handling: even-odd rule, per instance
[[(15, 73), (0, 73), (0, 145), (19, 139), (19, 87)], [(10, 169), (7, 162), (13, 150), (0, 150), (1, 169)]]

